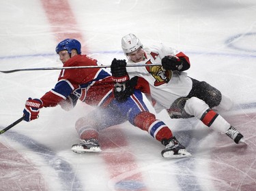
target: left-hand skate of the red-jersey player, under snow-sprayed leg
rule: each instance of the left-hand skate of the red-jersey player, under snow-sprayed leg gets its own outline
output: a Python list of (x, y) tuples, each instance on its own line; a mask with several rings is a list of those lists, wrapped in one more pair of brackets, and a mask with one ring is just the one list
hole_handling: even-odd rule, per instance
[(101, 152), (100, 145), (96, 139), (81, 140), (81, 143), (72, 145), (73, 152), (83, 154), (85, 152)]

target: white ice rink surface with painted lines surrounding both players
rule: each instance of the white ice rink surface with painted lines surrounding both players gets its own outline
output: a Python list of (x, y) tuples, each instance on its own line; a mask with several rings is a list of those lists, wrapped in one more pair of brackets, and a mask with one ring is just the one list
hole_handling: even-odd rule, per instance
[[(0, 135), (0, 190), (256, 190), (256, 2), (245, 1), (3, 1), (0, 6), (0, 70), (60, 67), (57, 42), (76, 37), (83, 53), (109, 65), (125, 58), (127, 33), (144, 45), (165, 43), (187, 54), (188, 75), (205, 80), (236, 103), (222, 114), (248, 145), (198, 120), (157, 114), (193, 154), (165, 160), (164, 148), (128, 122), (102, 131), (100, 154), (75, 154), (74, 123), (91, 107), (70, 112), (41, 109)], [(59, 71), (0, 73), (1, 129), (23, 114), (28, 97), (54, 87)], [(148, 103), (147, 103), (148, 104)], [(150, 110), (154, 112), (148, 104)]]

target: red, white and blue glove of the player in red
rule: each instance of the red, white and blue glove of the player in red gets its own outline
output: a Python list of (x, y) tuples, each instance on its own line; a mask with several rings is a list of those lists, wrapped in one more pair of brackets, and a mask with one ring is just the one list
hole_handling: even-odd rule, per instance
[(29, 99), (25, 103), (25, 109), (23, 110), (24, 120), (30, 122), (31, 120), (37, 119), (39, 116), (39, 110), (42, 108), (42, 101), (40, 99)]

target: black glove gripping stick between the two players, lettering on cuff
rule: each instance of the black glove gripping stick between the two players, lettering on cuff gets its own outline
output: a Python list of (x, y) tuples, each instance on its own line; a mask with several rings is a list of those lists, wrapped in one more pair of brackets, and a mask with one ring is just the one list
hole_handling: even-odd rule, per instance
[(126, 60), (117, 60), (114, 58), (111, 63), (111, 73), (114, 82), (122, 83), (129, 80), (129, 76), (126, 71)]

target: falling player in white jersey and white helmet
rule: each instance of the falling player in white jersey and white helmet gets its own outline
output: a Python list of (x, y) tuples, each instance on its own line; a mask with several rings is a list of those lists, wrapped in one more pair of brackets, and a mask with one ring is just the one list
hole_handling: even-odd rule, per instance
[[(163, 44), (144, 48), (131, 33), (122, 37), (122, 49), (128, 57), (128, 64), (148, 66), (126, 68), (126, 60), (114, 59), (112, 75), (127, 80), (137, 76), (137, 88), (152, 98), (156, 112), (166, 109), (171, 118), (196, 117), (235, 143), (244, 142), (243, 135), (216, 113), (218, 109), (231, 109), (232, 101), (210, 84), (187, 76), (184, 71), (190, 68), (188, 56)], [(159, 63), (159, 66), (151, 66), (152, 63)], [(125, 100), (126, 95), (119, 92), (116, 96)]]

